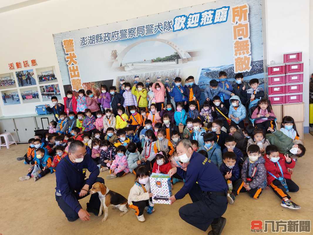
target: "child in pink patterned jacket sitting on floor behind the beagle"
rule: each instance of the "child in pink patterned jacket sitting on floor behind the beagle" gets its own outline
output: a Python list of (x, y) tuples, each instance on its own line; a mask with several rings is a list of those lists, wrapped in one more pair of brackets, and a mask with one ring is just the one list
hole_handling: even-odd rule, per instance
[(129, 173), (129, 167), (127, 163), (126, 148), (124, 145), (120, 145), (116, 148), (115, 159), (110, 166), (110, 175), (107, 175), (107, 179), (114, 179), (116, 177), (122, 177)]

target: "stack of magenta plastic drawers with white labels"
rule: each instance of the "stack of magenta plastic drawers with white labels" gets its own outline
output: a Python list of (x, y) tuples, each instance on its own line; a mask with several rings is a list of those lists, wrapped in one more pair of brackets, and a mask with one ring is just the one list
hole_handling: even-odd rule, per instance
[(303, 94), (302, 52), (284, 54), (284, 64), (268, 65), (268, 97), (271, 104), (301, 103)]

